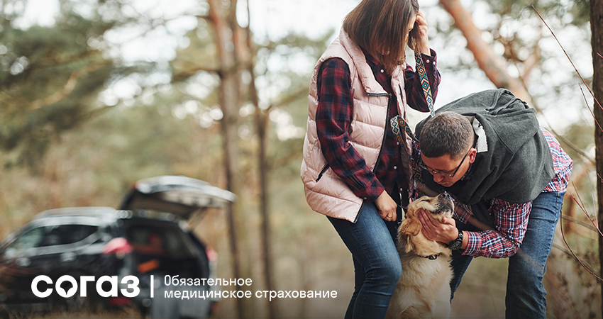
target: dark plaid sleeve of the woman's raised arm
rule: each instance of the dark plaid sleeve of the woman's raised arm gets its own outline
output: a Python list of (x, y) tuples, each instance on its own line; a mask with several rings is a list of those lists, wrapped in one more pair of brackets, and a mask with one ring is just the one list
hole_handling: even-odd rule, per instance
[[(431, 96), (433, 101), (436, 101), (438, 95), (438, 86), (440, 85), (441, 77), (438, 71), (436, 51), (431, 50), (431, 55), (421, 54), (423, 64), (425, 65), (425, 72), (429, 79), (429, 86), (431, 88)], [(404, 91), (406, 91), (406, 103), (411, 108), (417, 111), (428, 112), (429, 106), (423, 93), (423, 86), (421, 85), (421, 77), (419, 72), (414, 72), (412, 67), (406, 65), (404, 70)]]

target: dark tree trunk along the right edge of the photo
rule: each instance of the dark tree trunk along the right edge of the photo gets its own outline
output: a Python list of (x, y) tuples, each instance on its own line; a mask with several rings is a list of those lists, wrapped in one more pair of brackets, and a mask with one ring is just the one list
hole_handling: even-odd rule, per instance
[[(592, 45), (592, 92), (594, 99), (603, 100), (603, 0), (590, 0), (590, 28)], [(603, 110), (594, 101), (594, 120), (603, 123)], [(595, 161), (597, 166), (597, 202), (599, 229), (603, 229), (603, 132), (594, 125)], [(603, 237), (599, 236), (599, 273), (603, 276)], [(603, 282), (601, 283), (603, 296)], [(603, 313), (603, 304), (602, 304)]]

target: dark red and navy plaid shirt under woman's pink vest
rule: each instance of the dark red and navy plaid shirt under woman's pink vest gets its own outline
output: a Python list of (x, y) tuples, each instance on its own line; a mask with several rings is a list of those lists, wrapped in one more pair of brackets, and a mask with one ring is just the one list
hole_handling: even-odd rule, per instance
[[(433, 56), (422, 55), (433, 98), (438, 93), (440, 74), (436, 69), (436, 52)], [(375, 79), (387, 93), (392, 94), (392, 77), (387, 74), (385, 67), (371, 55), (365, 52), (368, 65)], [(319, 105), (316, 109), (316, 130), (321, 142), (321, 150), (333, 172), (340, 177), (353, 193), (372, 202), (382, 192), (400, 203), (400, 194), (407, 188), (404, 169), (400, 159), (399, 146), (389, 125), (389, 119), (398, 115), (397, 100), (389, 99), (389, 115), (387, 118), (385, 142), (382, 145), (377, 166), (372, 172), (368, 169), (363, 157), (358, 155), (348, 143), (348, 132), (353, 116), (353, 96), (351, 92), (350, 69), (339, 58), (324, 61), (319, 69), (316, 80)], [(428, 111), (419, 74), (415, 74), (409, 66), (404, 70), (404, 91), (406, 103), (418, 111)]]

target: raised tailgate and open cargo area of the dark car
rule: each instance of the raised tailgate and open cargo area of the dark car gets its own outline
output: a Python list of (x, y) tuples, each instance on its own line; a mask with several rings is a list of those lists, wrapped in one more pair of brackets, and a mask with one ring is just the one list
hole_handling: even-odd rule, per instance
[[(235, 201), (230, 191), (183, 176), (158, 176), (135, 182), (119, 209), (171, 213), (184, 220), (206, 208), (221, 208)], [(133, 272), (147, 284), (146, 275), (179, 274), (180, 278), (208, 278), (209, 260), (204, 245), (175, 224), (132, 218), (126, 238), (133, 248)], [(200, 252), (200, 255), (196, 252)], [(200, 267), (199, 267), (200, 266)]]

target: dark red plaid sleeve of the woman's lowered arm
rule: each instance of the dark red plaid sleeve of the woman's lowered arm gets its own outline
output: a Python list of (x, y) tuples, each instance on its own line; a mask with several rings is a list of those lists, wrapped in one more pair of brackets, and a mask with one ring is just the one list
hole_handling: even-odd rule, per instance
[(375, 201), (385, 188), (348, 142), (353, 115), (350, 83), (350, 69), (343, 60), (332, 58), (322, 63), (316, 83), (319, 98), (316, 130), (333, 172), (356, 196)]

